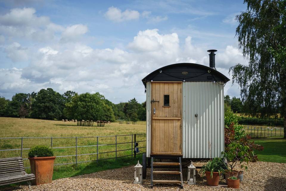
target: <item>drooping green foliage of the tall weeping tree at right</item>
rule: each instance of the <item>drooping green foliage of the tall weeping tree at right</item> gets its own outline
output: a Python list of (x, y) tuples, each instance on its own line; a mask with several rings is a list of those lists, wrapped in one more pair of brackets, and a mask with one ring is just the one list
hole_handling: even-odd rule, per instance
[(236, 36), (249, 63), (229, 69), (233, 83), (240, 86), (246, 114), (286, 118), (286, 1), (244, 3), (247, 10), (236, 17)]

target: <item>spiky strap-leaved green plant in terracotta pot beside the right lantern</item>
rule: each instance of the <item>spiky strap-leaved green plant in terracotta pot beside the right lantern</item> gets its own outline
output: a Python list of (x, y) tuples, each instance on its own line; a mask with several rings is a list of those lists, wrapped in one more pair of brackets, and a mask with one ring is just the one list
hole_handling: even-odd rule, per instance
[(217, 186), (220, 181), (220, 175), (224, 172), (226, 164), (222, 158), (213, 158), (202, 166), (200, 172), (206, 174), (206, 184), (209, 186)]

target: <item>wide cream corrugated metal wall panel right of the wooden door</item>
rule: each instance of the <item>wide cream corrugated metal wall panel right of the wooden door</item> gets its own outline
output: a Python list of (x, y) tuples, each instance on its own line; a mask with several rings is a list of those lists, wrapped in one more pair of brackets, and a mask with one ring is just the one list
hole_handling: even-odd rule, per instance
[(220, 157), (224, 150), (223, 85), (184, 82), (182, 91), (183, 158)]

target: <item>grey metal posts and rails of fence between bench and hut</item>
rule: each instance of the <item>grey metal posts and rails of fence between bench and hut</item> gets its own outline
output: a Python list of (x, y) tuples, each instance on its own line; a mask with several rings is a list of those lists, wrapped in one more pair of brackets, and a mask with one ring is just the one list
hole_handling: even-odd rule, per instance
[[(136, 140), (136, 135), (138, 138), (138, 135), (143, 135), (144, 140), (141, 139), (137, 139)], [(113, 138), (114, 137), (114, 143), (108, 143), (108, 144), (102, 144), (100, 141), (100, 139), (102, 138)], [(123, 137), (124, 140), (131, 140), (131, 141), (127, 141), (127, 142), (118, 142), (118, 138), (119, 137)], [(5, 152), (5, 151), (20, 151), (20, 156), (23, 157), (23, 151), (25, 150), (29, 150), (30, 148), (24, 148), (23, 147), (23, 142), (25, 139), (50, 139), (50, 147), (54, 149), (54, 151), (56, 149), (65, 149), (65, 148), (74, 148), (74, 154), (71, 155), (61, 155), (61, 156), (56, 156), (57, 158), (62, 158), (62, 157), (75, 157), (75, 161), (74, 162), (70, 162), (70, 163), (57, 163), (55, 165), (67, 165), (67, 164), (80, 164), (80, 163), (84, 163), (84, 162), (91, 162), (91, 161), (100, 161), (100, 160), (107, 160), (107, 159), (116, 159), (116, 158), (122, 158), (122, 157), (134, 157), (136, 158), (136, 154), (142, 154), (144, 152), (140, 151), (139, 153), (134, 152), (136, 150), (136, 143), (138, 145), (138, 149), (144, 149), (144, 151), (146, 150), (146, 144), (143, 142), (146, 142), (146, 133), (141, 133), (141, 134), (130, 134), (130, 135), (109, 135), (109, 136), (93, 136), (93, 137), (7, 137), (7, 138), (0, 138), (0, 148), (1, 148), (1, 142), (4, 140), (11, 140), (11, 139), (18, 139), (19, 141), (21, 141), (21, 148), (15, 148), (15, 149), (0, 149), (0, 158), (7, 158), (5, 156), (3, 156), (1, 154), (1, 152)], [(78, 140), (82, 139), (82, 138), (96, 138), (96, 144), (93, 145), (78, 145)], [(69, 146), (69, 147), (54, 147), (53, 146), (53, 141), (55, 141), (56, 139), (74, 139), (74, 146)], [(109, 140), (110, 142), (111, 140)], [(141, 144), (140, 144), (141, 143)], [(142, 144), (143, 143), (143, 144)], [(118, 145), (122, 145), (125, 144), (126, 149), (121, 149), (118, 150)], [(100, 148), (103, 146), (113, 146), (113, 148), (110, 148), (110, 150), (105, 149), (104, 152), (100, 152)], [(129, 146), (128, 146), (129, 145)], [(144, 145), (144, 147), (140, 147), (140, 145)], [(85, 153), (85, 154), (79, 154), (78, 153), (78, 149), (82, 148), (82, 147), (96, 147), (96, 152), (95, 153)], [(118, 155), (119, 152), (125, 151), (125, 155)], [(131, 152), (128, 152), (131, 151)], [(115, 153), (115, 157), (107, 157), (107, 158), (100, 158), (99, 155), (100, 154), (105, 154), (105, 153)], [(126, 155), (127, 154), (127, 155)], [(87, 160), (87, 161), (78, 161), (78, 157), (79, 156), (84, 156), (84, 155), (96, 155), (96, 160)], [(13, 156), (16, 157), (16, 156)], [(27, 160), (28, 158), (23, 158), (23, 160)], [(26, 167), (29, 168), (29, 167)]]

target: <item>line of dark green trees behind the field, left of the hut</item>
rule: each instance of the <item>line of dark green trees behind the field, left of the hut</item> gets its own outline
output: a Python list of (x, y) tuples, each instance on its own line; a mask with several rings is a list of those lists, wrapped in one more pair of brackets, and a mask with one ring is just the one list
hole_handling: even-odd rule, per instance
[(35, 93), (16, 93), (11, 100), (0, 97), (0, 116), (25, 116), (37, 119), (61, 120), (146, 120), (146, 102), (135, 98), (114, 104), (100, 93), (66, 91), (60, 94), (52, 88)]

